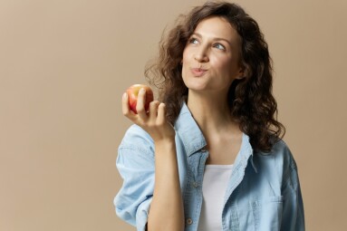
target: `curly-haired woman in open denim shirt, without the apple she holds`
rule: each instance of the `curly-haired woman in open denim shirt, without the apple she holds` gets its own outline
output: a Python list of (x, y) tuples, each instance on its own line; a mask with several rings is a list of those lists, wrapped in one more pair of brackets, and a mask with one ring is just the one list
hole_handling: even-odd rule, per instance
[(207, 3), (178, 21), (149, 68), (159, 101), (119, 148), (118, 216), (138, 230), (304, 230), (296, 165), (275, 119), (272, 68), (255, 20)]

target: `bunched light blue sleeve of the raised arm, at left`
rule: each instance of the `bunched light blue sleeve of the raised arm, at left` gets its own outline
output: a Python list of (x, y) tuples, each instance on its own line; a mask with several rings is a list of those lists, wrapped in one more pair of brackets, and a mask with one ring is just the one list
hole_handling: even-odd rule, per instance
[(116, 166), (123, 179), (114, 198), (117, 216), (143, 231), (154, 190), (154, 149), (149, 135), (130, 128), (118, 149)]

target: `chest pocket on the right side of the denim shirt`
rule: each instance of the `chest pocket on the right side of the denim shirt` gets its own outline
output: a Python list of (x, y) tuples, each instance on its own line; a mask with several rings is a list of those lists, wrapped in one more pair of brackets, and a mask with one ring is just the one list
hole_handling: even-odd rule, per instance
[(255, 231), (280, 230), (283, 197), (265, 197), (250, 202)]

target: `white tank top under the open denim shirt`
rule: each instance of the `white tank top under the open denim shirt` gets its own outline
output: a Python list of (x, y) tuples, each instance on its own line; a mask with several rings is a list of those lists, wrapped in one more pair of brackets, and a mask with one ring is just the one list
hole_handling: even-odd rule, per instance
[(233, 165), (206, 165), (198, 231), (221, 231), (222, 209)]

